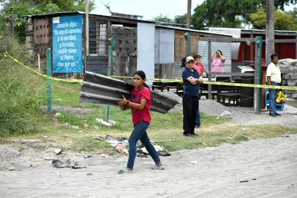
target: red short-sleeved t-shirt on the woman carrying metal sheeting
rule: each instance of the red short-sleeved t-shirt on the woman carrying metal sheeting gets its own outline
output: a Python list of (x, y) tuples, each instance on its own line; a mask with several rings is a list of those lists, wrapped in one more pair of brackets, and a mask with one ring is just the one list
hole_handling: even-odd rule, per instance
[(143, 86), (140, 90), (135, 90), (133, 87), (131, 91), (130, 101), (134, 103), (139, 103), (141, 99), (148, 99), (148, 102), (143, 110), (132, 108), (132, 122), (133, 125), (136, 125), (137, 122), (146, 121), (150, 123), (151, 117), (149, 113), (150, 105), (151, 105), (151, 93), (148, 87)]

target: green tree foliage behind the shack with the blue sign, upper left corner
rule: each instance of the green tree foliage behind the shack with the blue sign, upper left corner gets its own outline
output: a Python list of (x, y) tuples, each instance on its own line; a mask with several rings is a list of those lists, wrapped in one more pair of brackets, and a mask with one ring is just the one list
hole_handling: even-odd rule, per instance
[[(4, 18), (15, 15), (15, 37), (25, 40), (25, 15), (50, 14), (57, 12), (86, 11), (85, 0), (0, 0), (0, 28), (4, 30)], [(89, 0), (89, 11), (95, 8), (94, 0)]]

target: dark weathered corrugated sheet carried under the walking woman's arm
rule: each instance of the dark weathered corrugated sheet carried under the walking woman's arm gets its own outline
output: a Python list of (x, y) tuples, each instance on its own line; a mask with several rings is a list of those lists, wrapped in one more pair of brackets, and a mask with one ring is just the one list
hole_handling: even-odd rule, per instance
[[(104, 75), (86, 71), (80, 90), (79, 101), (90, 104), (118, 105), (122, 95), (130, 98), (130, 90), (134, 85)], [(152, 91), (151, 111), (168, 113), (178, 101), (161, 93)]]

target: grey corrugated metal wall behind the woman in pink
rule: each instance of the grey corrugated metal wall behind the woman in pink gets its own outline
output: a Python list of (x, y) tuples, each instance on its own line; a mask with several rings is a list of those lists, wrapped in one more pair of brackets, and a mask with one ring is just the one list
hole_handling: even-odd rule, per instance
[[(211, 42), (211, 54), (221, 50), (226, 58), (224, 63), (225, 72), (231, 72), (231, 42)], [(208, 42), (198, 41), (198, 54), (202, 56), (201, 62), (204, 69), (208, 72)]]

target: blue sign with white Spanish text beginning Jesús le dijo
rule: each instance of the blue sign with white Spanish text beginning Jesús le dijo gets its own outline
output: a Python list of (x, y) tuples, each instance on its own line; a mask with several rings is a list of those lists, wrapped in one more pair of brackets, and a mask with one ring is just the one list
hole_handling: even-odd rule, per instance
[(53, 72), (82, 73), (82, 15), (53, 17)]

